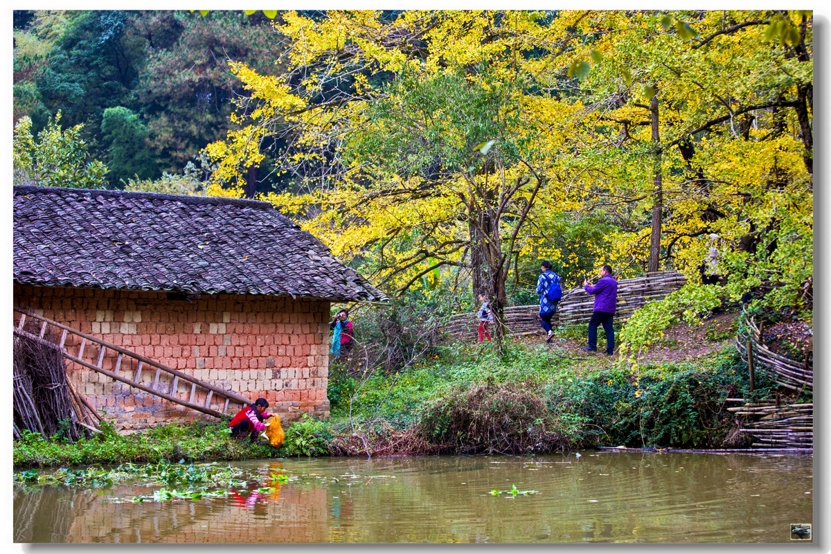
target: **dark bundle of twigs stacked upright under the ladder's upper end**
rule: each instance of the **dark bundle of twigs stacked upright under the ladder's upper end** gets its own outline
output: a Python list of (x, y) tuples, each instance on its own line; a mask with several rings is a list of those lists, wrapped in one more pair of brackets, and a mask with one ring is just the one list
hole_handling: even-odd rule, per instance
[[(37, 334), (37, 328), (27, 331)], [(15, 334), (13, 346), (13, 421), (14, 438), (22, 431), (40, 433), (46, 438), (65, 435), (74, 443), (88, 436), (100, 419), (66, 380), (66, 360), (45, 334), (30, 338)], [(82, 423), (83, 420), (88, 424)]]

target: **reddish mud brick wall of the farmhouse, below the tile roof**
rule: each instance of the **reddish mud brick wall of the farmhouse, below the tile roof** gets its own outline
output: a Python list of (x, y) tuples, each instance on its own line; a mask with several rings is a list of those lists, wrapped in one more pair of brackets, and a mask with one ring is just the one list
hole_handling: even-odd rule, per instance
[[(262, 396), (268, 411), (283, 421), (303, 413), (329, 414), (327, 301), (227, 294), (188, 301), (159, 291), (15, 285), (14, 305), (252, 401)], [(75, 353), (73, 347), (78, 346), (66, 342)], [(103, 367), (113, 370), (116, 353), (106, 352)], [(83, 359), (95, 364), (97, 347), (87, 348)], [(120, 370), (135, 367), (121, 365)], [(67, 373), (76, 390), (121, 429), (213, 419), (74, 362)], [(142, 382), (150, 384), (154, 374), (142, 373)]]

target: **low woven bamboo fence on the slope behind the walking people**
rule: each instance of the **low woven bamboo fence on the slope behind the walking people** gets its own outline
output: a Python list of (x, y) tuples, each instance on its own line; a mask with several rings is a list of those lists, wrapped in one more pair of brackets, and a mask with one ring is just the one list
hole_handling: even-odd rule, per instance
[[(653, 272), (646, 277), (621, 279), (617, 282), (617, 312), (615, 320), (626, 321), (638, 308), (647, 302), (666, 298), (671, 292), (683, 287), (686, 277), (680, 272)], [(563, 291), (563, 298), (557, 306), (552, 325), (582, 325), (592, 318), (594, 297), (583, 287)], [(504, 309), (506, 336), (522, 336), (542, 332), (538, 320), (539, 305), (510, 306)], [(478, 318), (473, 312), (455, 314), (442, 326), (442, 331), (456, 341), (475, 342), (478, 340)]]

